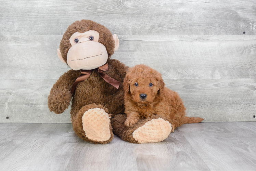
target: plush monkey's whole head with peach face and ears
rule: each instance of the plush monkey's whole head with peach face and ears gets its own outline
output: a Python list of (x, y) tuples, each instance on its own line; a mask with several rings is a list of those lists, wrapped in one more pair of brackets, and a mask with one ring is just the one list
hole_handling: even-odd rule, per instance
[(95, 69), (104, 65), (118, 47), (116, 34), (101, 24), (82, 19), (67, 28), (57, 54), (73, 70)]

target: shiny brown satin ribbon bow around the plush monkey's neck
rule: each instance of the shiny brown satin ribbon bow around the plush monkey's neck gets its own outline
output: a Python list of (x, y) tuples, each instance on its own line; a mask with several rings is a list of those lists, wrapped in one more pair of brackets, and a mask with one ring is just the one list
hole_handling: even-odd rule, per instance
[(72, 88), (71, 88), (71, 93), (74, 94), (75, 89), (76, 89), (76, 85), (81, 82), (86, 80), (87, 78), (89, 78), (89, 76), (91, 75), (92, 71), (95, 70), (97, 73), (99, 73), (99, 75), (108, 83), (110, 83), (112, 86), (114, 86), (115, 88), (119, 88), (120, 82), (111, 78), (110, 76), (106, 75), (103, 71), (107, 71), (108, 70), (108, 65), (107, 63), (105, 65), (100, 66), (99, 68), (96, 69), (90, 69), (90, 70), (84, 70), (81, 69), (81, 75), (76, 79), (76, 81), (74, 82)]

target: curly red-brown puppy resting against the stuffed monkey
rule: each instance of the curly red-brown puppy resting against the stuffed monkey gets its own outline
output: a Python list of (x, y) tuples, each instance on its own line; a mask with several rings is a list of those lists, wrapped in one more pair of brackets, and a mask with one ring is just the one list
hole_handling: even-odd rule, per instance
[(166, 88), (161, 74), (149, 66), (136, 65), (130, 68), (124, 80), (124, 90), (126, 127), (154, 115), (169, 121), (172, 132), (184, 123), (199, 123), (203, 120), (185, 116), (186, 108), (179, 94)]

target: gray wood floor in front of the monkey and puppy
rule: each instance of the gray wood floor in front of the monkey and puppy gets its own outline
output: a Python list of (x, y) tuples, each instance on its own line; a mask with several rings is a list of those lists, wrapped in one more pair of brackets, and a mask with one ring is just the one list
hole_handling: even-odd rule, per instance
[(256, 122), (185, 124), (160, 143), (79, 139), (70, 123), (0, 123), (0, 170), (256, 170)]

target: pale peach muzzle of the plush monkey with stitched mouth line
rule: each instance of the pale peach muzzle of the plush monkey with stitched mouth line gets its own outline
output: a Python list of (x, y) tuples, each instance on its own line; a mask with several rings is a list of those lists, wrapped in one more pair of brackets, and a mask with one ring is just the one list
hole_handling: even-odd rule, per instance
[(73, 70), (95, 69), (107, 62), (107, 50), (99, 42), (85, 41), (73, 45), (67, 52), (67, 64)]

